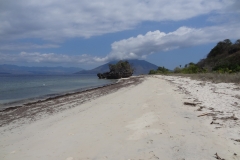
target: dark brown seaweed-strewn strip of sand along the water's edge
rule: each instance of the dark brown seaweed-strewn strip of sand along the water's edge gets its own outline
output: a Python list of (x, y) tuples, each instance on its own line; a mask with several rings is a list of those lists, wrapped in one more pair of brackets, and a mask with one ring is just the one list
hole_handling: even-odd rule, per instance
[[(49, 97), (43, 100), (37, 100), (34, 102), (6, 108), (0, 111), (0, 127), (8, 125), (15, 120), (21, 121), (21, 119), (24, 119), (23, 121), (25, 121), (25, 119), (32, 119), (35, 121), (37, 119), (41, 119), (41, 114), (52, 115), (59, 111), (63, 111), (75, 107), (76, 105), (91, 101), (94, 98), (116, 92), (121, 88), (128, 87), (130, 85), (137, 85), (138, 83), (141, 83), (142, 78), (143, 77), (141, 76), (122, 78), (116, 83), (90, 88), (79, 92), (66, 93), (64, 95)], [(71, 103), (76, 101), (76, 104), (73, 104), (72, 107), (64, 107), (64, 101), (72, 101)]]

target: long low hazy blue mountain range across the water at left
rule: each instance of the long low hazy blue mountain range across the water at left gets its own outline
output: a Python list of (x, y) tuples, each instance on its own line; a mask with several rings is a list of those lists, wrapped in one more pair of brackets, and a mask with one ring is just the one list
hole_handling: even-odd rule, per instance
[(16, 65), (0, 65), (0, 74), (73, 74), (81, 68), (76, 67), (25, 67)]

